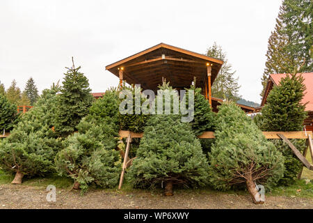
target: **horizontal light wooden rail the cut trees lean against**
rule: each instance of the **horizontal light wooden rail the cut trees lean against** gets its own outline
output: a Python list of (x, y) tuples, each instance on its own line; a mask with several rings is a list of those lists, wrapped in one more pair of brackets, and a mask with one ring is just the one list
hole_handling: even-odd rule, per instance
[[(266, 139), (280, 139), (278, 134), (284, 134), (287, 139), (308, 139), (309, 135), (312, 137), (312, 131), (298, 131), (298, 132), (262, 132)], [(136, 133), (126, 130), (120, 130), (120, 137), (126, 138), (131, 134), (131, 138), (143, 137), (143, 132)], [(199, 139), (214, 139), (214, 132), (203, 132)]]

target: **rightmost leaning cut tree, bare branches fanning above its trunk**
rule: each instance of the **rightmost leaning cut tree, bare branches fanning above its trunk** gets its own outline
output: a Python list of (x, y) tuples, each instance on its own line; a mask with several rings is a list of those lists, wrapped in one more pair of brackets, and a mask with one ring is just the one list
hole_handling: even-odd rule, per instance
[(218, 190), (246, 185), (259, 203), (255, 183), (275, 185), (284, 171), (284, 157), (234, 102), (218, 107), (217, 123), (209, 154), (211, 184)]

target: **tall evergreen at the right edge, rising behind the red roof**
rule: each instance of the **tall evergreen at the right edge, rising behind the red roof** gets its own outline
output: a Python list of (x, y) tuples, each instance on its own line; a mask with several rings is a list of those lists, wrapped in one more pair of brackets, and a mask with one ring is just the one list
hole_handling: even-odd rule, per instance
[[(264, 95), (268, 75), (312, 72), (313, 24), (311, 0), (284, 0), (276, 19), (275, 30), (268, 39), (266, 63), (262, 76)], [(300, 67), (300, 65), (303, 66)]]

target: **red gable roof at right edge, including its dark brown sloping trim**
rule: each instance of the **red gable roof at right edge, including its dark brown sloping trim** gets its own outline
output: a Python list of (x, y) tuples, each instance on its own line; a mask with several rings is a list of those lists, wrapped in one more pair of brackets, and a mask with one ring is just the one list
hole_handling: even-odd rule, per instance
[[(263, 106), (266, 103), (266, 98), (268, 93), (273, 89), (273, 86), (278, 86), (280, 84), (280, 79), (286, 77), (289, 74), (271, 74), (269, 75), (268, 82), (266, 84), (266, 89), (262, 98), (261, 105)], [(297, 75), (303, 76), (303, 84), (306, 86), (305, 95), (301, 102), (307, 105), (305, 106), (305, 111), (313, 111), (313, 72), (304, 72), (298, 73)]]

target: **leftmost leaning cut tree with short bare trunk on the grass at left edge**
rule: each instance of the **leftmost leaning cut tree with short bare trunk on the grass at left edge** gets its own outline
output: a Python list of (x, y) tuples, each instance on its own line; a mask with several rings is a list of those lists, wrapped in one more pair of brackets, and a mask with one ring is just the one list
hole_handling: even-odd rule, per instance
[(51, 130), (57, 91), (45, 90), (35, 107), (22, 115), (0, 145), (0, 165), (15, 173), (12, 183), (22, 183), (24, 176), (45, 176), (55, 171), (53, 160), (61, 147), (61, 141)]

